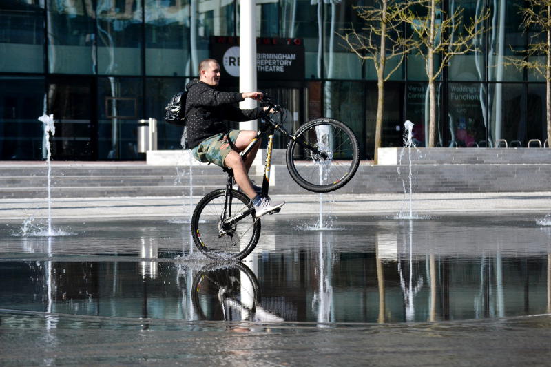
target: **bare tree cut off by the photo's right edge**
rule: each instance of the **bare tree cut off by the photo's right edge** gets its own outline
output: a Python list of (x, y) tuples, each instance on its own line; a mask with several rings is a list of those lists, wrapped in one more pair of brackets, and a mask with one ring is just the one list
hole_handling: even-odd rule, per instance
[[(506, 65), (514, 65), (519, 69), (530, 69), (545, 78), (545, 118), (547, 120), (547, 138), (551, 141), (551, 0), (528, 0), (528, 7), (521, 8), (523, 16), (521, 27), (535, 31), (524, 54), (523, 59), (506, 57)], [(543, 60), (539, 57), (543, 56)]]

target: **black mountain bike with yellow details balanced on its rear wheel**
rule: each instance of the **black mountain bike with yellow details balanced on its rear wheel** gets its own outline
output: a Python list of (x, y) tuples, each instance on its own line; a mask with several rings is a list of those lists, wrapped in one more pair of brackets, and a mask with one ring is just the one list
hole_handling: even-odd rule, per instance
[[(284, 109), (270, 98), (264, 103), (275, 114), (265, 116), (256, 138), (240, 154), (245, 157), (258, 138), (268, 135), (262, 195), (268, 196), (270, 162), (275, 131), (289, 138), (286, 163), (289, 174), (300, 187), (326, 193), (348, 183), (360, 164), (357, 139), (344, 123), (333, 118), (316, 118), (300, 126), (295, 134), (282, 127)], [(280, 116), (279, 119), (275, 116)], [(209, 258), (242, 260), (258, 243), (260, 218), (256, 218), (251, 200), (233, 189), (231, 169), (222, 168), (228, 175), (225, 189), (207, 193), (191, 216), (191, 234), (196, 247)], [(270, 214), (277, 213), (279, 209)]]

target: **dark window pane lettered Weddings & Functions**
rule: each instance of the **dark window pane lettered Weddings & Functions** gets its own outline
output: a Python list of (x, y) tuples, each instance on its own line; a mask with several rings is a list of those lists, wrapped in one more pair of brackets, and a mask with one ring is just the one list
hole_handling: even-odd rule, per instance
[(448, 85), (448, 147), (486, 147), (486, 96), (481, 83)]

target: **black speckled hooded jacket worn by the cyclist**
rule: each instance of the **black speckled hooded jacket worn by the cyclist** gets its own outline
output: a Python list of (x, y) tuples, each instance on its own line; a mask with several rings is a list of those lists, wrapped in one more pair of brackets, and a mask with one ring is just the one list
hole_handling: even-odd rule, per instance
[(216, 87), (194, 79), (185, 86), (187, 98), (187, 144), (190, 149), (210, 136), (227, 132), (227, 121), (249, 121), (264, 116), (261, 107), (239, 109), (233, 104), (243, 101), (238, 92), (220, 92)]

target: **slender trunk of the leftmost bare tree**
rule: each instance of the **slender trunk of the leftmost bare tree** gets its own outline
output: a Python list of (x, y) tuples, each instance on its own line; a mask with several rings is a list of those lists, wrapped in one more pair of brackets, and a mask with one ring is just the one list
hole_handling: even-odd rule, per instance
[(379, 159), (384, 111), (384, 67), (386, 64), (386, 0), (382, 1), (381, 48), (377, 67), (377, 118), (375, 119), (375, 165)]

